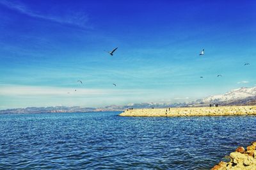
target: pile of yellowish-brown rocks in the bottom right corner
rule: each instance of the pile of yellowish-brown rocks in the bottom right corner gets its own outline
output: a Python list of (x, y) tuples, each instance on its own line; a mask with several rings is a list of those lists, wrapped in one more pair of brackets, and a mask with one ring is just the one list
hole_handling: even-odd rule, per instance
[(230, 153), (230, 162), (221, 161), (212, 170), (224, 169), (256, 169), (256, 141), (244, 150), (243, 147), (238, 147), (236, 151)]

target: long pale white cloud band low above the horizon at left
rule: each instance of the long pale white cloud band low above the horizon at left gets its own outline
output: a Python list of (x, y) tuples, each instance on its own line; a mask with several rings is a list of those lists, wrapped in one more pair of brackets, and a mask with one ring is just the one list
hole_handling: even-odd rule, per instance
[(50, 86), (22, 86), (0, 84), (0, 108), (40, 107), (51, 105), (79, 105), (81, 107), (103, 107), (111, 104), (140, 102), (154, 98), (151, 90), (100, 88), (58, 88)]

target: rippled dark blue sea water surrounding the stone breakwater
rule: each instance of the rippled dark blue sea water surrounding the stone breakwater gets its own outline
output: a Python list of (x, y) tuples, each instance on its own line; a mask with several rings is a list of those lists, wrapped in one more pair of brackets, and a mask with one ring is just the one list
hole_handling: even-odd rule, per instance
[(256, 116), (2, 114), (0, 169), (210, 169), (256, 141)]

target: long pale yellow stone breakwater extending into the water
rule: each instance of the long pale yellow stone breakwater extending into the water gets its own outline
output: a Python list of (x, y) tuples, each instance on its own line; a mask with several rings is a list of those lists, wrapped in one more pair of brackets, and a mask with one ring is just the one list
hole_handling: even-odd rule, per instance
[(236, 116), (256, 115), (256, 105), (221, 107), (175, 107), (164, 109), (128, 109), (119, 116)]

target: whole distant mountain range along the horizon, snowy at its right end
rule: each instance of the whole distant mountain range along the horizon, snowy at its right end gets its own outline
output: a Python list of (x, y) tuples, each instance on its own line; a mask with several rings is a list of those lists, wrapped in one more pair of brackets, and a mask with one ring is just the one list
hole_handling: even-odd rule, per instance
[(184, 103), (140, 103), (140, 104), (128, 104), (128, 105), (108, 105), (101, 108), (93, 107), (66, 107), (66, 106), (54, 106), (54, 107), (27, 107), (17, 109), (1, 110), (0, 114), (8, 113), (43, 113), (43, 112), (97, 112), (97, 111), (124, 111), (125, 109), (134, 108), (165, 108), (165, 107), (199, 107), (207, 106), (209, 104), (218, 105), (256, 105), (256, 87), (253, 88), (239, 88), (228, 91), (223, 95), (213, 95), (202, 99), (195, 100), (193, 102)]

